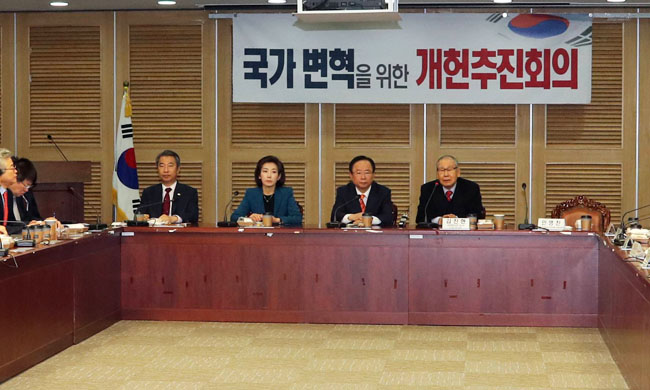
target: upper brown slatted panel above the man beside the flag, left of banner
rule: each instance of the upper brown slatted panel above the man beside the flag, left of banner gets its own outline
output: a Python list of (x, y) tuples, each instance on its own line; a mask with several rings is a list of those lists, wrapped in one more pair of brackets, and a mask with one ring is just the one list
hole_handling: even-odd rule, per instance
[(136, 146), (203, 141), (202, 26), (130, 25)]

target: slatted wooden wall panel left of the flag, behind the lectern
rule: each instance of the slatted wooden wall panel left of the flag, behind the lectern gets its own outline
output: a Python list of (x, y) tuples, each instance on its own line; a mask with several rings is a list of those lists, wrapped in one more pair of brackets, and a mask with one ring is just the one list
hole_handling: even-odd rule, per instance
[(17, 154), (91, 161), (85, 219), (112, 219), (113, 16), (111, 13), (16, 15)]

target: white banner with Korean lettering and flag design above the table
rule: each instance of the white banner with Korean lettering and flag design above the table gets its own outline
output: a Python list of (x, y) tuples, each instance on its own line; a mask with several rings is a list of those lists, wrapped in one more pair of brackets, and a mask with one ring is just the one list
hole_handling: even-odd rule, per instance
[(239, 14), (233, 19), (233, 101), (591, 101), (588, 15), (401, 17), (386, 25), (306, 24), (288, 14)]

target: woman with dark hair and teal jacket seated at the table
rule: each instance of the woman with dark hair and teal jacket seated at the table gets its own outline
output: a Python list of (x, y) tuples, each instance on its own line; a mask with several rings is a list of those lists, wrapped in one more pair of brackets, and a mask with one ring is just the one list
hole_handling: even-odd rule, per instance
[(262, 221), (264, 213), (273, 214), (273, 223), (302, 225), (302, 214), (293, 197), (293, 188), (284, 187), (284, 164), (275, 156), (262, 157), (255, 168), (257, 187), (246, 190), (246, 195), (230, 217), (249, 217)]

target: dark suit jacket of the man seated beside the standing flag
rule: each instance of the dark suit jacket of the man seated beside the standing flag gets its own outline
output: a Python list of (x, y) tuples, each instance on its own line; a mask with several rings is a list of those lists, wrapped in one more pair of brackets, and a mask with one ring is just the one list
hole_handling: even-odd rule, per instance
[[(162, 214), (162, 184), (154, 184), (142, 191), (141, 207), (138, 210), (158, 218)], [(178, 215), (183, 222), (197, 223), (199, 221), (199, 193), (196, 188), (176, 182), (176, 190), (172, 196), (171, 215)]]

